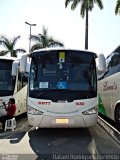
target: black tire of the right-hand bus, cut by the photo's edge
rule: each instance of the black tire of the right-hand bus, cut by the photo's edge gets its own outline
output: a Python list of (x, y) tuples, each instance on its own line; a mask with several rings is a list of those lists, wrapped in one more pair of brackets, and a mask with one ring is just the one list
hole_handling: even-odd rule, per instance
[(115, 124), (118, 131), (120, 131), (120, 105), (117, 105), (115, 109)]

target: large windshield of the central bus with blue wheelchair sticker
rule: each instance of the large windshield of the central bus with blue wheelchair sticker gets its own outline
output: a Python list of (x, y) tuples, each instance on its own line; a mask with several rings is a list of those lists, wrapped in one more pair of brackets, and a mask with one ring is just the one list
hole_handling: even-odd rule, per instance
[(94, 59), (90, 52), (71, 50), (33, 54), (30, 96), (42, 99), (57, 97), (57, 100), (96, 96)]

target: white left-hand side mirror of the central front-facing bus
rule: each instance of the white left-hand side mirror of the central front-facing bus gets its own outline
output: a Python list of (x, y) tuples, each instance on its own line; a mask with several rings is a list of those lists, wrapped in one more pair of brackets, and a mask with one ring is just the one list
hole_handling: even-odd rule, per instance
[(24, 54), (20, 58), (20, 73), (25, 73), (26, 70), (29, 70), (29, 66), (27, 64), (28, 54)]

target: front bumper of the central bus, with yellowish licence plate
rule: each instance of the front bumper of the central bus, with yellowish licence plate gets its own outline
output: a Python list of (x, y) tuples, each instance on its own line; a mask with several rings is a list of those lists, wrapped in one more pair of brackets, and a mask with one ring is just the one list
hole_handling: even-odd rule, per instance
[(97, 123), (97, 114), (76, 116), (32, 115), (28, 113), (29, 124), (38, 128), (86, 128)]

